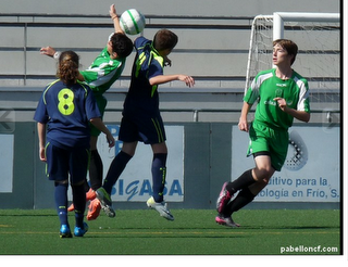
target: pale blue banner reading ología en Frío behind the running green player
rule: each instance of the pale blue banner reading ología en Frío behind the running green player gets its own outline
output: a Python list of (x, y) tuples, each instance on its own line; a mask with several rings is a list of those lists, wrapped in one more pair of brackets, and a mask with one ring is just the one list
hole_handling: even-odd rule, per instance
[[(246, 157), (249, 135), (233, 126), (232, 180), (254, 167)], [(254, 201), (339, 202), (339, 127), (291, 127), (282, 171), (275, 171)]]

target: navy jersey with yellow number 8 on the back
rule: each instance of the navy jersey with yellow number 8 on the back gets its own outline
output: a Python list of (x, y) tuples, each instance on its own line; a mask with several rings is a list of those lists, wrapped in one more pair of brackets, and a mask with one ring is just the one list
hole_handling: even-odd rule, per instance
[(47, 124), (47, 142), (60, 148), (89, 148), (89, 119), (100, 117), (90, 88), (82, 82), (49, 84), (39, 100), (34, 119)]

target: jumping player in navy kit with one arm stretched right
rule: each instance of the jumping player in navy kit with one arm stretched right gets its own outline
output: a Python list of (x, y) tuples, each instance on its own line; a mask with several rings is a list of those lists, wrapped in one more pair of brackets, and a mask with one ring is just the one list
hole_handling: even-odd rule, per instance
[(167, 148), (159, 110), (158, 86), (172, 80), (182, 80), (188, 87), (195, 85), (190, 76), (163, 74), (163, 66), (170, 63), (167, 55), (176, 43), (177, 36), (167, 29), (159, 30), (153, 41), (138, 37), (134, 42), (137, 54), (133, 64), (129, 90), (124, 101), (119, 135), (123, 147), (111, 163), (103, 187), (97, 190), (97, 198), (110, 217), (115, 216), (110, 198), (112, 187), (135, 154), (138, 141), (141, 141), (150, 144), (153, 152), (151, 166), (153, 194), (147, 201), (147, 205), (159, 212), (162, 217), (174, 219), (163, 201)]

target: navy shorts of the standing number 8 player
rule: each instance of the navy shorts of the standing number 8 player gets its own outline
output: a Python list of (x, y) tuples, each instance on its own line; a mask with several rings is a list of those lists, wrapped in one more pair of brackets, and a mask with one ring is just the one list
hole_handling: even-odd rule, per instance
[(86, 148), (62, 149), (51, 143), (46, 145), (46, 175), (50, 180), (69, 180), (72, 185), (86, 179), (89, 167), (89, 150)]

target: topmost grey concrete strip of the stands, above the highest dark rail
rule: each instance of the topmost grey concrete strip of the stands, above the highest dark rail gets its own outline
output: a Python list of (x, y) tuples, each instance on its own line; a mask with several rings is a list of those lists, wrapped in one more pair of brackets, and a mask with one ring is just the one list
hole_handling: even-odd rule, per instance
[(50, 13), (50, 14), (109, 14), (110, 4), (117, 11), (136, 8), (144, 14), (163, 15), (212, 15), (212, 16), (256, 16), (273, 12), (339, 12), (340, 1), (333, 0), (2, 0), (1, 13)]

